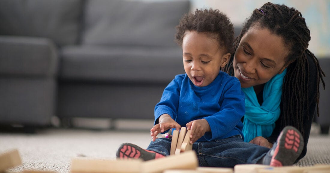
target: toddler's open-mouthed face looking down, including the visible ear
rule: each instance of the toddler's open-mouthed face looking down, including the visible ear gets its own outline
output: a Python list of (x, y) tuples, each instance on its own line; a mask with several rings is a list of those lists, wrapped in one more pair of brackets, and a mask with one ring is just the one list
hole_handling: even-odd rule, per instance
[(198, 87), (211, 84), (230, 54), (224, 54), (216, 37), (209, 33), (187, 31), (182, 41), (184, 71)]

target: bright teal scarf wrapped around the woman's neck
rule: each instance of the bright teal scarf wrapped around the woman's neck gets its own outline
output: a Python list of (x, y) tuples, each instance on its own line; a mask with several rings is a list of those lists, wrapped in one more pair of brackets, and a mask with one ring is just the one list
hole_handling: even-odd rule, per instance
[(280, 117), (282, 86), (286, 69), (269, 80), (263, 90), (263, 103), (260, 106), (253, 87), (242, 88), (245, 94), (245, 115), (243, 121), (244, 141), (249, 142), (256, 136), (269, 137), (275, 121)]

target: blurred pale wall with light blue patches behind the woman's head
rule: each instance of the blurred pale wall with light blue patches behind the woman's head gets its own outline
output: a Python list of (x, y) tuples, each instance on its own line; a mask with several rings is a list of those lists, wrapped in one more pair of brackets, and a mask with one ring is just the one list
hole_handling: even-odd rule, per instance
[(329, 0), (191, 0), (191, 9), (214, 8), (226, 13), (234, 25), (242, 25), (252, 11), (264, 3), (285, 4), (294, 7), (305, 17), (311, 30), (309, 50), (318, 57), (330, 56), (330, 1)]

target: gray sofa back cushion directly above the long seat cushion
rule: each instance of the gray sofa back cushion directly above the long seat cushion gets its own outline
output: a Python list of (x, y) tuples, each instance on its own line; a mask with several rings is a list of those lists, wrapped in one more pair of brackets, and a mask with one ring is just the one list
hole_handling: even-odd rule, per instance
[(189, 7), (183, 0), (87, 0), (82, 44), (175, 47), (175, 26)]

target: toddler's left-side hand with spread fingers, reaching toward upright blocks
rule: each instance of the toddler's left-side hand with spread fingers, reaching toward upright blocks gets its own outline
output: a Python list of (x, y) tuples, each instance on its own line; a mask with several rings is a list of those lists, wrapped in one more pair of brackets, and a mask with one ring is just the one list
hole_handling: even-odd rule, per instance
[(159, 117), (159, 123), (154, 125), (150, 129), (150, 135), (152, 137), (152, 141), (156, 140), (158, 133), (163, 133), (164, 131), (170, 128), (176, 128), (176, 130), (179, 130), (181, 128), (181, 125), (178, 124), (176, 121), (174, 121), (170, 115), (168, 114), (161, 115)]

